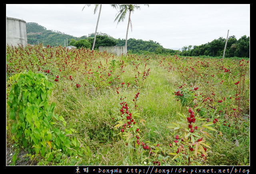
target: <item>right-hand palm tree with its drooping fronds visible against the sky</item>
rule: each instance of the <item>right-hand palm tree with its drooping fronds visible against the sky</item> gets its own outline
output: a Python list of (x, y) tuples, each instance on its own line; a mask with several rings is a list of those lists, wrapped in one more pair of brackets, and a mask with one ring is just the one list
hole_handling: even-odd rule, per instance
[[(148, 4), (144, 4), (148, 6)], [(129, 30), (129, 25), (131, 24), (131, 30), (132, 30), (132, 23), (131, 23), (131, 13), (134, 12), (134, 9), (140, 9), (140, 6), (138, 4), (122, 4), (118, 6), (120, 8), (119, 14), (116, 16), (116, 20), (118, 20), (117, 23), (123, 22), (127, 12), (129, 12), (129, 19), (128, 19), (128, 25), (127, 25), (127, 30), (126, 30), (126, 39), (125, 39), (125, 53), (127, 53), (127, 38), (128, 38), (128, 30)]]

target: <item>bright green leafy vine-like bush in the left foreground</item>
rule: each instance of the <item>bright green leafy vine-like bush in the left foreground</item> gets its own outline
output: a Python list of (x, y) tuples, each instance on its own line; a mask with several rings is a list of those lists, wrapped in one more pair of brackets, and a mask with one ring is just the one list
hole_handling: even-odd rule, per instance
[[(52, 152), (56, 150), (77, 156), (80, 143), (72, 135), (74, 130), (53, 126), (58, 121), (65, 126), (66, 122), (54, 113), (55, 104), (48, 102), (54, 87), (52, 82), (43, 74), (35, 74), (31, 70), (11, 76), (9, 82), (11, 89), (7, 103), (10, 106), (9, 117), (14, 120), (11, 128), (14, 141), (41, 154), (48, 161), (53, 160)], [(84, 151), (80, 149), (79, 152)]]

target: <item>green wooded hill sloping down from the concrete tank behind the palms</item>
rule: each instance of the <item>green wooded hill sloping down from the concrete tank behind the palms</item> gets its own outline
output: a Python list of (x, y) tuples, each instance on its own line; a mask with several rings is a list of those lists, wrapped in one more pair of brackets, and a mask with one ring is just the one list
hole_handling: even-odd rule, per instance
[[(78, 41), (81, 39), (87, 39), (90, 43), (93, 42), (94, 33), (89, 34), (88, 36), (74, 37), (62, 33), (60, 31), (47, 30), (45, 27), (39, 25), (38, 23), (29, 22), (26, 23), (27, 29), (27, 39), (28, 44), (36, 45), (42, 43), (43, 45), (70, 45), (71, 41)], [(104, 36), (104, 37), (100, 37)], [(107, 38), (106, 38), (107, 37)], [(74, 39), (74, 40), (73, 40)], [(68, 41), (68, 44), (67, 44)], [(98, 49), (99, 46), (124, 46), (125, 39), (115, 39), (106, 33), (97, 33), (97, 40), (95, 43), (95, 49)], [(108, 45), (110, 44), (110, 45)], [(143, 53), (143, 52), (152, 52), (152, 53), (175, 53), (172, 49), (165, 49), (159, 43), (155, 41), (143, 41), (142, 39), (128, 39), (127, 49), (130, 53)]]

